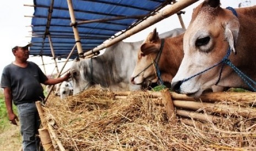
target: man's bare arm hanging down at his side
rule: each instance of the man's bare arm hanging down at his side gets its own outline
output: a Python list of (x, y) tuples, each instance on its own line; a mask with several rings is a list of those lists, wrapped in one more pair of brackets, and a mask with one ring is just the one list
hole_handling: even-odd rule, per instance
[(13, 96), (12, 96), (12, 90), (10, 88), (4, 88), (4, 101), (6, 102), (6, 108), (8, 113), (8, 118), (10, 123), (17, 125), (16, 120), (18, 121), (18, 117), (16, 114), (13, 113)]

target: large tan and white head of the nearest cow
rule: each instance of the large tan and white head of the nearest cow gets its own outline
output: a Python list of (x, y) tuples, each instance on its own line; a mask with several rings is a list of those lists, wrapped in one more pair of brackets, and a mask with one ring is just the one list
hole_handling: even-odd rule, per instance
[[(172, 79), (172, 89), (181, 94), (199, 96), (219, 79), (221, 66), (189, 78), (204, 69), (214, 66), (231, 48), (236, 53), (235, 44), (239, 32), (239, 22), (232, 11), (222, 9), (220, 1), (206, 0), (194, 9), (192, 20), (184, 34), (184, 58), (176, 76)], [(223, 79), (231, 68), (224, 67), (219, 85), (225, 86)]]

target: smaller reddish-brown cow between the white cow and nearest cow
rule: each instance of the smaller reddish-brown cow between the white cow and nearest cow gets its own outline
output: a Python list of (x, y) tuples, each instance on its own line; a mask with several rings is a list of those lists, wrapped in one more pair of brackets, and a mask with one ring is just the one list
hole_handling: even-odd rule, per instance
[[(138, 60), (132, 74), (131, 82), (133, 84), (142, 84), (148, 81), (152, 83), (157, 82), (159, 80), (156, 71), (157, 66), (161, 73), (162, 82), (165, 82), (165, 85), (168, 85), (166, 83), (171, 83), (183, 59), (183, 35), (165, 38), (164, 41), (161, 41), (156, 29), (149, 33), (138, 51)], [(161, 43), (164, 44), (162, 50)], [(155, 61), (154, 66), (153, 61)], [(223, 91), (225, 89), (219, 86), (213, 86), (209, 90)]]

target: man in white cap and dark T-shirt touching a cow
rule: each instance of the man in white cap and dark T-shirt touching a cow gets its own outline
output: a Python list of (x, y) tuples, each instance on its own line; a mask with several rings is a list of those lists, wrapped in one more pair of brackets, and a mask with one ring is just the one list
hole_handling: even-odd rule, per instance
[(35, 102), (45, 98), (41, 83), (53, 85), (68, 80), (70, 77), (70, 73), (67, 73), (61, 78), (47, 78), (39, 66), (27, 61), (30, 46), (31, 43), (20, 43), (12, 48), (15, 61), (4, 67), (1, 78), (8, 118), (14, 125), (17, 125), (18, 117), (13, 112), (12, 102), (18, 107), (24, 151), (39, 149), (40, 140), (36, 134), (41, 121)]

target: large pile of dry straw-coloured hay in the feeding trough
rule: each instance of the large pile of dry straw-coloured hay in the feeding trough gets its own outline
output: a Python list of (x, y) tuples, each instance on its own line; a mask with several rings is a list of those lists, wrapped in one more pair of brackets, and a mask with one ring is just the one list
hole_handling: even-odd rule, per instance
[[(221, 123), (168, 121), (148, 95), (114, 99), (89, 89), (64, 100), (50, 96), (43, 109), (67, 150), (255, 150), (254, 119), (226, 115)], [(157, 98), (161, 101), (161, 98)], [(43, 121), (46, 122), (46, 121)]]

